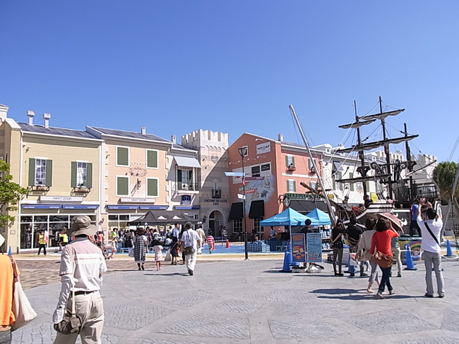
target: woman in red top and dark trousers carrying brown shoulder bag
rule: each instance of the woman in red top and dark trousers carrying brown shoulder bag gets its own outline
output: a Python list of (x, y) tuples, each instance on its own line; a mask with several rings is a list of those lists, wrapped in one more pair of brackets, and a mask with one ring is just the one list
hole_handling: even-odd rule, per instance
[(391, 220), (381, 217), (376, 222), (376, 233), (374, 233), (373, 238), (371, 239), (371, 254), (374, 254), (376, 251), (381, 252), (382, 254), (386, 254), (391, 261), (389, 267), (379, 266), (381, 271), (383, 271), (383, 276), (381, 277), (381, 283), (379, 283), (378, 293), (376, 297), (383, 299), (384, 289), (387, 288), (389, 290), (389, 295), (393, 295), (395, 292), (393, 291), (391, 285), (391, 266), (392, 266), (392, 247), (391, 241), (392, 238), (398, 237), (399, 234), (392, 228)]

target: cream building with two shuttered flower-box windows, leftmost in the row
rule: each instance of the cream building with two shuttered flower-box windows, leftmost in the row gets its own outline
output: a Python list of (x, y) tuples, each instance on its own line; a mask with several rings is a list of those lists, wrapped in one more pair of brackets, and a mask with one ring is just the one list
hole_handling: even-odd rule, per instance
[(37, 233), (47, 231), (48, 247), (59, 247), (59, 233), (75, 215), (100, 221), (100, 159), (102, 141), (81, 130), (49, 127), (4, 118), (0, 145), (11, 165), (13, 181), (28, 189), (19, 204), (17, 221), (2, 231), (13, 252), (37, 249)]

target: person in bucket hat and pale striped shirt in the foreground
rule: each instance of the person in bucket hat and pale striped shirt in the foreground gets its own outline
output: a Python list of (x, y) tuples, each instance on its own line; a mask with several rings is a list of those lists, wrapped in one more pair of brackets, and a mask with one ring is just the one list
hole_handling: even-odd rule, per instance
[[(107, 271), (107, 266), (100, 248), (89, 240), (96, 231), (88, 216), (73, 217), (68, 236), (75, 237), (75, 240), (62, 250), (59, 269), (61, 293), (52, 316), (54, 324), (59, 324), (66, 309), (71, 312), (71, 291), (74, 290), (75, 302), (78, 303), (76, 314), (81, 319), (80, 336), (83, 344), (102, 343), (100, 336), (104, 326), (104, 307), (99, 290), (102, 286), (102, 274)], [(57, 333), (54, 344), (74, 344), (77, 338), (77, 333)]]

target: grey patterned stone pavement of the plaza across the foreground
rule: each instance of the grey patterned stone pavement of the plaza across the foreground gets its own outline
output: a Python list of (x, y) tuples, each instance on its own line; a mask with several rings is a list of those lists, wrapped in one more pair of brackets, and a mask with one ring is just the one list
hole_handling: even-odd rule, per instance
[[(59, 259), (18, 260), (38, 317), (13, 333), (13, 344), (52, 343)], [(395, 295), (376, 300), (367, 278), (281, 273), (282, 260), (166, 264), (134, 271), (107, 262), (102, 343), (399, 343), (459, 344), (459, 264), (443, 264), (446, 297), (424, 297), (424, 266), (392, 278)], [(77, 343), (80, 343), (79, 341)]]

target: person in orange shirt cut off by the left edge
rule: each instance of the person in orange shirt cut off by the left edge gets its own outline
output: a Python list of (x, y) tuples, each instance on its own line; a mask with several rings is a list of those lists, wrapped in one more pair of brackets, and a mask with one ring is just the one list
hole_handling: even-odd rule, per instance
[[(19, 275), (19, 269), (16, 266)], [(13, 313), (13, 265), (6, 254), (0, 254), (0, 344), (11, 344)]]

